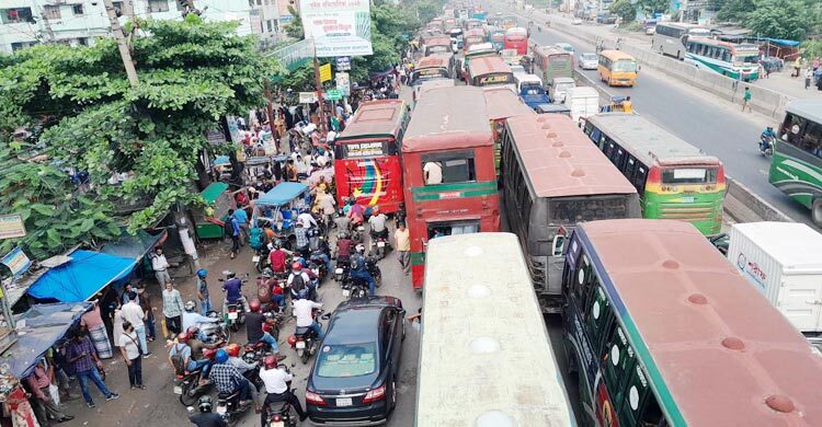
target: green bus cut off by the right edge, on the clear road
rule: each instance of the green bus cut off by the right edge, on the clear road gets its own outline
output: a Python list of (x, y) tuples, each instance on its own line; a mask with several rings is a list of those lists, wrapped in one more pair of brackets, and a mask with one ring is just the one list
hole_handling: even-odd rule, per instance
[(768, 182), (810, 208), (822, 227), (822, 101), (788, 104), (777, 137)]

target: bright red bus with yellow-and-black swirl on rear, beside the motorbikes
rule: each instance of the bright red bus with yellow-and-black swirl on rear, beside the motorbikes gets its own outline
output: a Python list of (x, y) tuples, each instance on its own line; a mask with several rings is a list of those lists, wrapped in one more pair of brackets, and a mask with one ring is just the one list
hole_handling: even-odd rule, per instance
[(396, 212), (402, 204), (399, 147), (410, 119), (402, 100), (379, 100), (359, 106), (335, 140), (336, 201), (356, 197), (364, 206)]

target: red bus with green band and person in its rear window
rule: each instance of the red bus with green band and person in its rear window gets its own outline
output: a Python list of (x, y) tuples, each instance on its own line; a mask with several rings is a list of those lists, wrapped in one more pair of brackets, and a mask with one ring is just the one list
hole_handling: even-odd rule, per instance
[(402, 141), (402, 176), (411, 282), (420, 289), (430, 239), (500, 230), (493, 137), (480, 88), (433, 88), (420, 97)]

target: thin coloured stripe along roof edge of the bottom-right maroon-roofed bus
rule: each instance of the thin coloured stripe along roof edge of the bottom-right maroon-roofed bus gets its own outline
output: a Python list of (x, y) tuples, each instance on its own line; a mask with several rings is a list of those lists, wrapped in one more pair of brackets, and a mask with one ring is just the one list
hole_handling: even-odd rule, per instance
[[(582, 240), (583, 244), (587, 246), (589, 250), (594, 247), (584, 230), (576, 229), (576, 232), (579, 233), (580, 240)], [(657, 367), (657, 363), (653, 361), (653, 357), (651, 356), (651, 351), (648, 349), (648, 345), (642, 339), (642, 335), (639, 333), (639, 328), (637, 328), (637, 324), (633, 322), (630, 313), (628, 313), (628, 309), (625, 307), (625, 301), (623, 301), (623, 299), (619, 297), (619, 292), (617, 292), (616, 287), (614, 286), (614, 281), (607, 275), (607, 270), (605, 269), (602, 259), (600, 259), (600, 255), (595, 251), (586, 251), (586, 253), (591, 258), (594, 268), (596, 269), (596, 275), (600, 277), (602, 285), (605, 287), (605, 289), (607, 289), (608, 296), (610, 297), (610, 302), (616, 309), (619, 323), (628, 334), (628, 341), (630, 342), (631, 347), (639, 356), (639, 360), (642, 361), (642, 366), (646, 368), (646, 372), (651, 378), (651, 381), (649, 381), (649, 383), (657, 394), (660, 407), (663, 408), (663, 412), (671, 422), (671, 426), (687, 426), (685, 417), (682, 415), (680, 407), (676, 405), (676, 401), (671, 394), (671, 390), (665, 383), (665, 379), (662, 377), (659, 367)]]

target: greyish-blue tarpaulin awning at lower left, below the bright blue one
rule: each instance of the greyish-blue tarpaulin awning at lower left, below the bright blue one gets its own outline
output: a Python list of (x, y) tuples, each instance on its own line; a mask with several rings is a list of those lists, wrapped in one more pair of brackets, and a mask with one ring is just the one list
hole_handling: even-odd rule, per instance
[(16, 378), (27, 377), (48, 347), (62, 338), (91, 307), (91, 302), (32, 307), (16, 318), (18, 325), (25, 322), (25, 327), (19, 327), (18, 342), (0, 356), (0, 363), (8, 363)]

